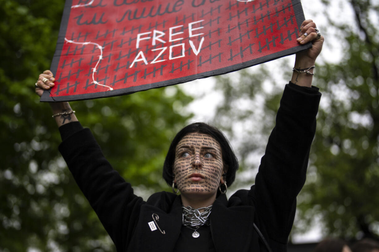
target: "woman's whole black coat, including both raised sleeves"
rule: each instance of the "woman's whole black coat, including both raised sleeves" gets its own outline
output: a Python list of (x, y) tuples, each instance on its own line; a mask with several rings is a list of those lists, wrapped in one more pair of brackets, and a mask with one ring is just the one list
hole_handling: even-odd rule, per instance
[[(213, 204), (210, 227), (217, 252), (267, 251), (253, 222), (273, 251), (287, 251), (320, 96), (315, 87), (286, 85), (255, 185), (250, 190), (238, 190), (229, 200), (221, 195)], [(172, 251), (182, 226), (180, 197), (160, 192), (143, 201), (113, 170), (89, 129), (70, 123), (60, 130), (63, 134), (75, 132), (64, 139), (60, 152), (117, 251)], [(155, 223), (164, 234), (149, 227), (154, 213), (159, 216)]]

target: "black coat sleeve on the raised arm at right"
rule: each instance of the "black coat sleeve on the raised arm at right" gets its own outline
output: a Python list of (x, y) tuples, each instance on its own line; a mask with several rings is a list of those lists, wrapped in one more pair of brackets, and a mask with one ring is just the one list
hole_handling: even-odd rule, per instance
[(296, 196), (305, 183), (316, 131), (320, 97), (316, 87), (286, 85), (255, 186), (249, 191), (258, 226), (265, 230), (273, 251), (285, 247), (293, 225)]

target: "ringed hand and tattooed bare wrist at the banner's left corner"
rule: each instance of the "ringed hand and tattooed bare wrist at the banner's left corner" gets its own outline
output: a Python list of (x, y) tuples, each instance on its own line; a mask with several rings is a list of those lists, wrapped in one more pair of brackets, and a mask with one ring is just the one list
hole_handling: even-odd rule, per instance
[[(41, 97), (44, 90), (49, 90), (54, 86), (54, 81), (55, 78), (53, 76), (53, 73), (50, 70), (45, 70), (39, 75), (38, 81), (36, 82), (36, 94)], [(64, 101), (49, 104), (53, 111), (53, 117), (58, 127), (62, 126), (63, 124), (78, 121), (74, 111), (71, 109), (68, 102)]]

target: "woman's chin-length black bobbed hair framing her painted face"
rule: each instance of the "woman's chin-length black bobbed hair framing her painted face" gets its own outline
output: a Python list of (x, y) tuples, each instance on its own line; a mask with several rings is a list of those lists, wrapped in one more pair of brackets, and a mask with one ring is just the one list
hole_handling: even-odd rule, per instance
[(236, 171), (238, 170), (237, 157), (235, 156), (232, 146), (230, 146), (230, 143), (227, 140), (226, 136), (219, 129), (207, 123), (189, 124), (175, 135), (174, 139), (171, 142), (170, 148), (168, 149), (166, 159), (164, 160), (163, 164), (163, 179), (166, 181), (166, 183), (171, 186), (172, 180), (174, 179), (172, 168), (175, 161), (176, 146), (180, 140), (182, 140), (182, 138), (189, 133), (202, 133), (215, 138), (221, 147), (224, 170), (227, 170), (227, 173), (224, 176), (226, 185), (228, 187), (232, 185), (235, 179)]

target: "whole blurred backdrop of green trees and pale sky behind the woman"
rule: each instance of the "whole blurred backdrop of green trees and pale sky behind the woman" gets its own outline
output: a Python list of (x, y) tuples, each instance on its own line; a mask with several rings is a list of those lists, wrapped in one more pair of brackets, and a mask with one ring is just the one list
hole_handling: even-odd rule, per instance
[[(323, 96), (290, 243), (379, 239), (379, 1), (302, 2), (326, 38), (313, 84)], [(49, 105), (34, 94), (49, 69), (63, 0), (0, 0), (0, 252), (115, 251), (57, 151)], [(265, 150), (288, 56), (227, 75), (70, 103), (114, 168), (144, 199), (186, 123), (222, 129), (240, 160), (228, 194), (249, 188)]]

